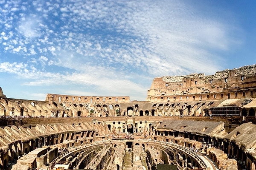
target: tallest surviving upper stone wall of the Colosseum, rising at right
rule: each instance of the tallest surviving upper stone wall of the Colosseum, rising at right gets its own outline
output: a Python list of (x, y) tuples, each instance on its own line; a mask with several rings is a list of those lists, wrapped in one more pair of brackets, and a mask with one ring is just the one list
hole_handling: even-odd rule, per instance
[(147, 101), (193, 101), (256, 97), (256, 65), (217, 71), (214, 75), (189, 74), (157, 77)]

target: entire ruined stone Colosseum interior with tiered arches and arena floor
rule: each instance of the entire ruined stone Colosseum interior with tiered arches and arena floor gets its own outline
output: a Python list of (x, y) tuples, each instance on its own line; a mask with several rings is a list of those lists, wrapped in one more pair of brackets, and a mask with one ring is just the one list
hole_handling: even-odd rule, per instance
[(38, 101), (0, 88), (0, 170), (256, 169), (256, 65), (156, 77), (147, 93)]

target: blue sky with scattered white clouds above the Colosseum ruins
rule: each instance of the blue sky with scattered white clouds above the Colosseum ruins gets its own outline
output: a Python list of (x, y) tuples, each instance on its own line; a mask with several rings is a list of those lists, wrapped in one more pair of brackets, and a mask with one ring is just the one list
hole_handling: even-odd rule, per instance
[(154, 77), (256, 64), (255, 1), (0, 0), (0, 87), (145, 101)]

